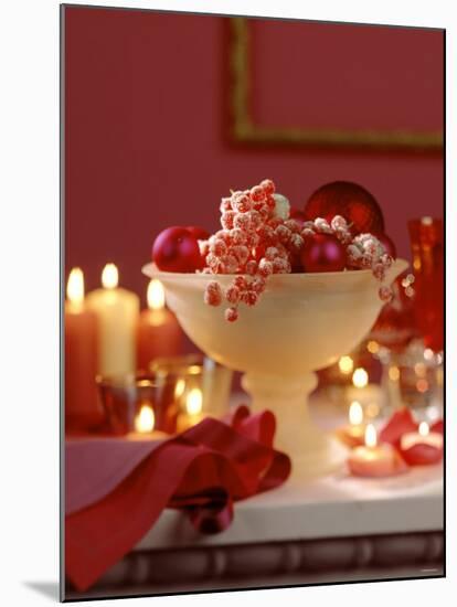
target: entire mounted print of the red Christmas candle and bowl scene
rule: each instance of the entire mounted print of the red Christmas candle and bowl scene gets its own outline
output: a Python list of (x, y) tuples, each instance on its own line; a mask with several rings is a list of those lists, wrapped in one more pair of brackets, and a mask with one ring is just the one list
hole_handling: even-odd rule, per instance
[(444, 42), (62, 7), (62, 599), (444, 575)]

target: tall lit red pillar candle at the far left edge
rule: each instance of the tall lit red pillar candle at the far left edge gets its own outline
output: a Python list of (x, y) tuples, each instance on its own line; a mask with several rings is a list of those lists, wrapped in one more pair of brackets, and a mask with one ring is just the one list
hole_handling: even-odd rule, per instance
[(84, 276), (70, 273), (65, 302), (65, 430), (87, 432), (104, 418), (95, 382), (97, 318), (84, 302)]

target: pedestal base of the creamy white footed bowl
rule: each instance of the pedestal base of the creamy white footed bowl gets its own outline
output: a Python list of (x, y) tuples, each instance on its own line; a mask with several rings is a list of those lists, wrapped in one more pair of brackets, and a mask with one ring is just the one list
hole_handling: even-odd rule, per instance
[(315, 373), (298, 377), (245, 373), (242, 385), (252, 396), (253, 412), (275, 414), (274, 445), (290, 456), (291, 481), (323, 476), (343, 465), (347, 448), (317, 427), (309, 415), (307, 400), (317, 385)]

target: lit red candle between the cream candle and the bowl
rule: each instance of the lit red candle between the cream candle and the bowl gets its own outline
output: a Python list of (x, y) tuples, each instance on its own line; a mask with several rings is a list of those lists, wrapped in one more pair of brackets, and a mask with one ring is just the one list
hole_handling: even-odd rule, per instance
[(182, 350), (182, 330), (164, 306), (160, 280), (149, 283), (147, 300), (148, 309), (141, 312), (137, 331), (137, 366), (145, 372), (157, 356), (176, 356)]

